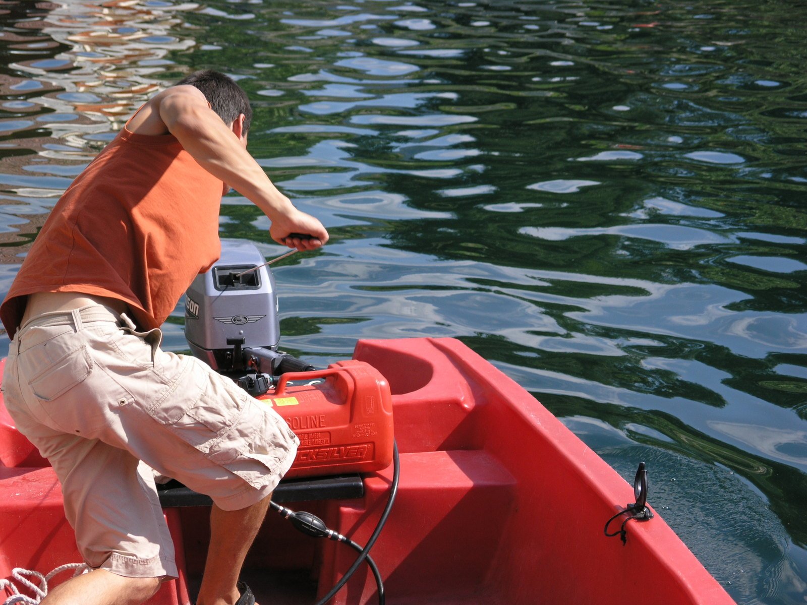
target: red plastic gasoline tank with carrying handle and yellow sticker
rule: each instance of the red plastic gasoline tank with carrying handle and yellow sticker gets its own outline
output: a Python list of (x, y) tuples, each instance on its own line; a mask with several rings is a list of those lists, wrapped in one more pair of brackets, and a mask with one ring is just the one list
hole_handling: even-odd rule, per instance
[(365, 473), (391, 464), (390, 387), (364, 361), (337, 361), (317, 372), (285, 373), (274, 393), (261, 400), (299, 437), (287, 478)]

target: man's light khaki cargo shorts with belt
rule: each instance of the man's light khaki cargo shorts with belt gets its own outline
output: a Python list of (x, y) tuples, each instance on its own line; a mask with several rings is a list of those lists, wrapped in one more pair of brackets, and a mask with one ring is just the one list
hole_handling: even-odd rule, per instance
[(2, 378), (86, 563), (131, 578), (177, 576), (152, 469), (237, 510), (274, 490), (299, 444), (270, 407), (161, 338), (100, 305), (45, 313), (16, 333)]

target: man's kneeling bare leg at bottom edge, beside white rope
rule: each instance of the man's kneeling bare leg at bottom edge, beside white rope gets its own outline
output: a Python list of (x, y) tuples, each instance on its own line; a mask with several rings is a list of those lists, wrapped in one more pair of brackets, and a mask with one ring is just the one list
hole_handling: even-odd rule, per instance
[(50, 590), (42, 605), (140, 605), (157, 592), (160, 583), (159, 578), (124, 578), (94, 570)]

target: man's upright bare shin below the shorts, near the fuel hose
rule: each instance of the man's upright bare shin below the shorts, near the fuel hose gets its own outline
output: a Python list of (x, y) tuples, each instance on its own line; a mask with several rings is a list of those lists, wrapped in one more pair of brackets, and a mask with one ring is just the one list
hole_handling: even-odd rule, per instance
[(241, 565), (261, 528), (272, 495), (238, 511), (223, 511), (213, 505), (210, 513), (210, 546), (196, 605), (233, 605)]

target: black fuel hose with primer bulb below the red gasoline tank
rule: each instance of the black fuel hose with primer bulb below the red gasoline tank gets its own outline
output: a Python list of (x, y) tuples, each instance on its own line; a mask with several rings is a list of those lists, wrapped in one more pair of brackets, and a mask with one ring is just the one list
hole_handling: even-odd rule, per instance
[(312, 536), (315, 538), (328, 538), (328, 540), (335, 540), (337, 542), (344, 542), (346, 545), (349, 545), (354, 550), (357, 550), (359, 555), (356, 561), (353, 561), (353, 565), (350, 566), (350, 569), (345, 572), (345, 575), (342, 576), (341, 580), (337, 582), (336, 586), (328, 592), (322, 599), (317, 601), (316, 605), (325, 605), (328, 603), (334, 595), (341, 590), (342, 586), (345, 586), (347, 581), (350, 577), (358, 570), (359, 565), (362, 565), (362, 561), (367, 561), (367, 565), (370, 567), (370, 570), (373, 572), (373, 577), (375, 578), (375, 585), (378, 587), (378, 605), (384, 605), (384, 585), (381, 580), (381, 574), (378, 572), (378, 566), (375, 565), (375, 561), (370, 558), (370, 549), (373, 548), (375, 544), (375, 540), (378, 540), (378, 535), (381, 533), (381, 530), (384, 528), (384, 524), (387, 523), (387, 517), (390, 515), (390, 511), (392, 510), (392, 503), (395, 502), (395, 495), (398, 494), (398, 478), (400, 474), (400, 464), (399, 464), (399, 457), (398, 457), (398, 443), (396, 441), (392, 442), (392, 485), (390, 486), (390, 495), (387, 499), (387, 506), (384, 507), (384, 511), (381, 514), (381, 519), (378, 519), (378, 524), (375, 526), (373, 534), (370, 536), (370, 540), (367, 540), (367, 544), (362, 549), (362, 547), (353, 540), (346, 536), (342, 536), (341, 533), (335, 532), (332, 529), (328, 529), (328, 527), (324, 524), (323, 520), (320, 519), (316, 515), (312, 515), (310, 512), (306, 511), (299, 511), (295, 512), (292, 511), (291, 508), (282, 507), (277, 503), (270, 502), (269, 505), (272, 507), (272, 510), (277, 511), (281, 516), (285, 517), (286, 519), (291, 520), (291, 524), (298, 529), (299, 532), (303, 532), (306, 536)]

